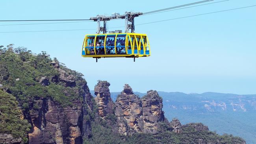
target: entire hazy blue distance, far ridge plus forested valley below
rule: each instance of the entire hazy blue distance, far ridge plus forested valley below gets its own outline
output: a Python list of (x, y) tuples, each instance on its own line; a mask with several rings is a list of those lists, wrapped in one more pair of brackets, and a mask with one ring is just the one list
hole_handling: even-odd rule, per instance
[[(91, 93), (94, 95), (93, 90)], [(120, 92), (111, 92), (115, 102)], [(146, 93), (134, 92), (139, 97)], [(256, 94), (202, 94), (158, 91), (163, 98), (167, 119), (176, 117), (181, 123), (202, 122), (219, 134), (232, 133), (245, 138), (247, 144), (256, 143)], [(228, 127), (228, 128), (227, 128)]]

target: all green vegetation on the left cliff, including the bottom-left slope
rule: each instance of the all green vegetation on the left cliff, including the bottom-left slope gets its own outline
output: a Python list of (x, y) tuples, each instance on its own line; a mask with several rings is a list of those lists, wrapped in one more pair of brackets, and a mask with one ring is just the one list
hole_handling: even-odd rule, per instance
[[(35, 103), (38, 98), (50, 98), (62, 107), (76, 107), (72, 103), (74, 100), (82, 103), (82, 89), (86, 81), (81, 73), (60, 66), (67, 74), (74, 75), (76, 80), (75, 87), (65, 87), (46, 52), (32, 55), (24, 47), (13, 48), (13, 44), (6, 48), (0, 46), (0, 52), (5, 52), (0, 54), (0, 133), (10, 133), (27, 142), (30, 124), (21, 120), (20, 114), (23, 112), (24, 118), (29, 119), (30, 112), (39, 109)], [(49, 85), (39, 83), (42, 77), (48, 79)], [(52, 81), (53, 77), (58, 80)]]

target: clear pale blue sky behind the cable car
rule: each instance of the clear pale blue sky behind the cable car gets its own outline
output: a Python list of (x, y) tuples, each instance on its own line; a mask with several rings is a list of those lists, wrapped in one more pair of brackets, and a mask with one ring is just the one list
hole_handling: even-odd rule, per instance
[[(145, 13), (198, 1), (0, 0), (0, 20), (89, 19), (98, 14)], [(136, 17), (135, 24), (256, 5), (255, 0), (220, 1)], [(51, 58), (57, 57), (68, 68), (81, 72), (90, 90), (97, 80), (106, 80), (111, 84), (111, 92), (121, 91), (128, 83), (139, 92), (153, 89), (256, 94), (255, 15), (256, 7), (249, 7), (135, 26), (135, 32), (147, 34), (151, 49), (150, 57), (140, 57), (135, 62), (132, 58), (102, 58), (96, 63), (93, 58), (81, 56), (85, 34), (96, 32), (84, 29), (96, 28), (96, 22), (0, 22), (0, 45), (12, 43), (14, 47), (24, 46), (37, 54), (46, 51)], [(123, 19), (108, 22), (109, 31), (119, 26), (124, 26)], [(3, 33), (13, 31), (45, 32)]]

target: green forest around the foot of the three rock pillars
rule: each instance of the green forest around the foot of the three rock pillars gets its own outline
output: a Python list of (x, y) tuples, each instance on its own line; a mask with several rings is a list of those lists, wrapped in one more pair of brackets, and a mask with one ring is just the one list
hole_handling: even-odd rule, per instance
[(105, 120), (92, 122), (92, 137), (84, 138), (83, 144), (197, 144), (211, 142), (219, 144), (241, 144), (242, 138), (232, 135), (217, 135), (211, 131), (197, 131), (193, 127), (185, 127), (182, 133), (174, 133), (171, 127), (161, 124), (158, 135), (135, 133), (131, 136), (124, 136), (113, 133), (111, 127)]

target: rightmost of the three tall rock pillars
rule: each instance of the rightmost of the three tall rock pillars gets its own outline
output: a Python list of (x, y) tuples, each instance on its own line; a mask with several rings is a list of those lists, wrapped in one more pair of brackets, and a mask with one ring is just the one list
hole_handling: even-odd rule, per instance
[(149, 90), (141, 99), (145, 133), (157, 133), (158, 122), (164, 121), (163, 100), (156, 90)]

